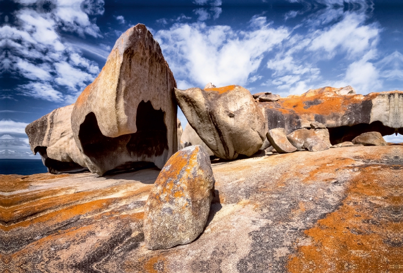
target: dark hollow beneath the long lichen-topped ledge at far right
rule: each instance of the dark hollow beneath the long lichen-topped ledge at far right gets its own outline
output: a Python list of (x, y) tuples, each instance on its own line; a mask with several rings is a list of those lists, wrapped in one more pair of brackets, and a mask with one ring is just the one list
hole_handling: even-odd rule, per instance
[(380, 121), (374, 121), (370, 124), (360, 123), (353, 126), (340, 126), (328, 129), (331, 145), (345, 141), (352, 141), (355, 137), (358, 137), (358, 135), (364, 132), (380, 132), (382, 135), (388, 135), (395, 132), (394, 128), (385, 126)]

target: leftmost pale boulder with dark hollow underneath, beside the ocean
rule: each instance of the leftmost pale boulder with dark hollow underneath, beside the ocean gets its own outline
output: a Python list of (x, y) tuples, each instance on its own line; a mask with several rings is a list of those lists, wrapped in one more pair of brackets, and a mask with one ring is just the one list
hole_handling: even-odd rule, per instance
[(53, 174), (88, 170), (73, 138), (73, 107), (57, 108), (25, 128), (31, 151), (41, 155), (43, 165)]

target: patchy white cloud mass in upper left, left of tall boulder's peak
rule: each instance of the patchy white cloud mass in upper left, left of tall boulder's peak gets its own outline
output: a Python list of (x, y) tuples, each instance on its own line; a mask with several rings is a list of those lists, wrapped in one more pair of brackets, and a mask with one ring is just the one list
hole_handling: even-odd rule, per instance
[[(98, 51), (85, 45), (65, 43), (60, 33), (77, 33), (84, 37), (101, 37), (99, 28), (89, 15), (103, 14), (103, 0), (20, 0), (20, 10), (15, 11), (13, 26), (0, 27), (0, 68), (31, 80), (16, 88), (34, 98), (62, 102), (75, 97), (99, 73), (98, 65), (84, 57), (82, 50), (106, 58), (107, 53), (99, 46)], [(45, 11), (43, 5), (49, 4)], [(50, 9), (50, 10), (49, 10)], [(54, 75), (57, 75), (54, 77)], [(58, 89), (67, 87), (72, 93), (62, 94)]]

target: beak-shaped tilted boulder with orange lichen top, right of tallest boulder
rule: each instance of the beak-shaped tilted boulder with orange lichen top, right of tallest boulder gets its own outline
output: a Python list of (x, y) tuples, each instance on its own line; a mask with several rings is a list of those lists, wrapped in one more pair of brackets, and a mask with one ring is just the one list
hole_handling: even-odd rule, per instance
[(251, 156), (262, 146), (264, 118), (248, 90), (231, 85), (175, 89), (175, 95), (190, 125), (217, 157)]

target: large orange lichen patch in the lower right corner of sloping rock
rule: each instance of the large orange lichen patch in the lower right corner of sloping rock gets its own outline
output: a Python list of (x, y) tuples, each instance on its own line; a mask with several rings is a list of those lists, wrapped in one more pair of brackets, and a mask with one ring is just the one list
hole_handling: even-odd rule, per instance
[[(387, 171), (385, 171), (387, 168)], [(390, 177), (390, 173), (395, 173)], [(343, 205), (305, 231), (312, 243), (289, 257), (290, 272), (401, 272), (402, 171), (393, 166), (360, 169)]]

